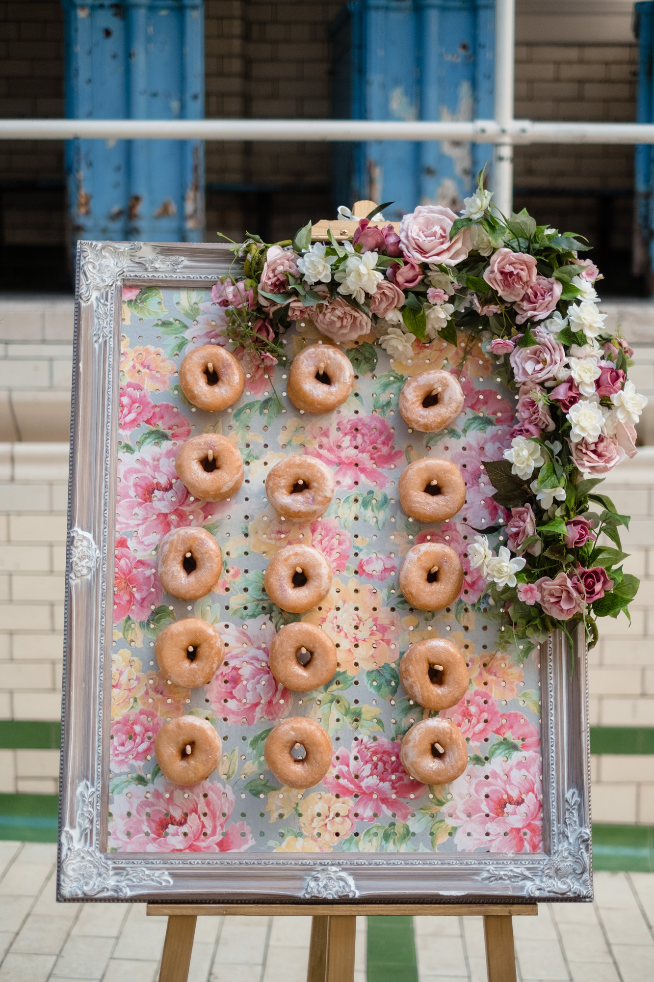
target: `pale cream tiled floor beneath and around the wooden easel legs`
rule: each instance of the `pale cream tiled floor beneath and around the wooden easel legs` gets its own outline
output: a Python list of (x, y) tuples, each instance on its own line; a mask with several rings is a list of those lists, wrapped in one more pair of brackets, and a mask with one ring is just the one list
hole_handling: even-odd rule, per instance
[[(0, 982), (154, 982), (165, 918), (142, 903), (56, 903), (56, 847), (0, 842)], [(420, 982), (486, 982), (480, 917), (416, 917)], [(598, 873), (595, 902), (514, 918), (521, 982), (654, 976), (654, 873)], [(308, 917), (200, 917), (192, 982), (304, 982)], [(365, 982), (365, 918), (355, 982)], [(398, 980), (401, 982), (401, 980)]]

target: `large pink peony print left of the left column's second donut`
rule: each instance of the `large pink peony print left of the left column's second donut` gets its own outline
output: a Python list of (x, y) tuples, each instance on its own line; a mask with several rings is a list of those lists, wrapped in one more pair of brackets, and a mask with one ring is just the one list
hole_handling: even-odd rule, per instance
[(138, 457), (120, 462), (116, 523), (119, 531), (134, 530), (136, 543), (148, 550), (173, 528), (202, 525), (229, 507), (193, 498), (177, 476), (176, 457), (170, 444), (148, 445)]

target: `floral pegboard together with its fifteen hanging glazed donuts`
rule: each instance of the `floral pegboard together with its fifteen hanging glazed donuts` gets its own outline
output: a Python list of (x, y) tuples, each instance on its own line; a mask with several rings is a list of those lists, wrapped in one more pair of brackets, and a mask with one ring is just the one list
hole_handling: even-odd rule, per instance
[[(304, 321), (264, 370), (208, 288), (132, 294), (107, 852), (542, 853), (540, 652), (466, 551), (506, 518), (491, 363), (343, 355)], [(434, 370), (451, 418), (425, 432)]]

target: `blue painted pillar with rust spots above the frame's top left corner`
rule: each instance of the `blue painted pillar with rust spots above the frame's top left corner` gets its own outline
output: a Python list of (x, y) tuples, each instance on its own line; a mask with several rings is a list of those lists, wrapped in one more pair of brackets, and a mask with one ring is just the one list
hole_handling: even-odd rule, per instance
[[(202, 119), (202, 0), (63, 0), (66, 115)], [(78, 239), (201, 242), (201, 140), (67, 142), (70, 233)]]

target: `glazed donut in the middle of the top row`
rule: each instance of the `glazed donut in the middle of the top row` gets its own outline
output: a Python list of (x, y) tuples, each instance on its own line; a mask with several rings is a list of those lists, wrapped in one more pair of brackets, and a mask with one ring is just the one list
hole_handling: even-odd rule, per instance
[(345, 403), (354, 387), (348, 355), (332, 345), (310, 345), (296, 355), (289, 375), (289, 399), (297, 409), (331, 412)]

